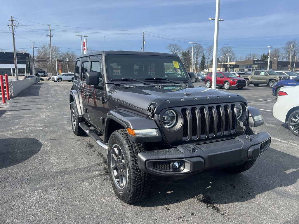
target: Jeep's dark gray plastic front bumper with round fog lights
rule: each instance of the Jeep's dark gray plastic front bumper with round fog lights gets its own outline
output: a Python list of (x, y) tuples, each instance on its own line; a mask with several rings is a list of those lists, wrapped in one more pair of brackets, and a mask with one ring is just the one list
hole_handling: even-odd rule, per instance
[[(266, 152), (270, 143), (271, 136), (264, 131), (220, 142), (144, 151), (138, 154), (138, 166), (150, 174), (185, 178), (208, 169), (239, 165), (255, 159)], [(179, 161), (180, 167), (174, 169), (176, 161)]]

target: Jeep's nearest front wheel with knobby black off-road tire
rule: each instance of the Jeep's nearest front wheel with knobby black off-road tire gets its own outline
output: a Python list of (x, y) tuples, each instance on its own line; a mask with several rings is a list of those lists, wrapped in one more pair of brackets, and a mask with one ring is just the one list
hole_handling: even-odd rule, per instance
[(138, 153), (144, 150), (143, 143), (129, 140), (125, 129), (114, 131), (109, 138), (109, 178), (115, 194), (123, 202), (136, 202), (149, 192), (151, 175), (141, 171), (137, 161)]

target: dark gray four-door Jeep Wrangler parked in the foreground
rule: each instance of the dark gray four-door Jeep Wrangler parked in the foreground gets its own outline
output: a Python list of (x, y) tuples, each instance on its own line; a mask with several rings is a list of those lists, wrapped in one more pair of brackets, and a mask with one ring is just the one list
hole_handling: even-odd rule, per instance
[(142, 199), (151, 175), (181, 179), (210, 169), (248, 170), (271, 142), (246, 99), (192, 84), (179, 56), (98, 51), (76, 59), (70, 92), (75, 135), (107, 149), (109, 177), (124, 202)]

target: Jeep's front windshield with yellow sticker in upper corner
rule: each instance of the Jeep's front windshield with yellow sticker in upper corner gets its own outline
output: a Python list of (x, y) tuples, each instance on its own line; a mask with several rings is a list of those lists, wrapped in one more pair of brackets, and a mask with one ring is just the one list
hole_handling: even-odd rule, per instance
[(172, 56), (108, 54), (106, 66), (109, 80), (157, 77), (176, 81), (189, 79), (180, 59)]

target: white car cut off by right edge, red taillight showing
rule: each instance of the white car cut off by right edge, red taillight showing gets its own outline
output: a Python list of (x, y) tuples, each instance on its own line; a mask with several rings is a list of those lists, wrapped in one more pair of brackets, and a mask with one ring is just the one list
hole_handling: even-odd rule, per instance
[(299, 136), (298, 94), (299, 85), (281, 87), (272, 110), (273, 116), (282, 122), (287, 122), (290, 131), (297, 136)]

